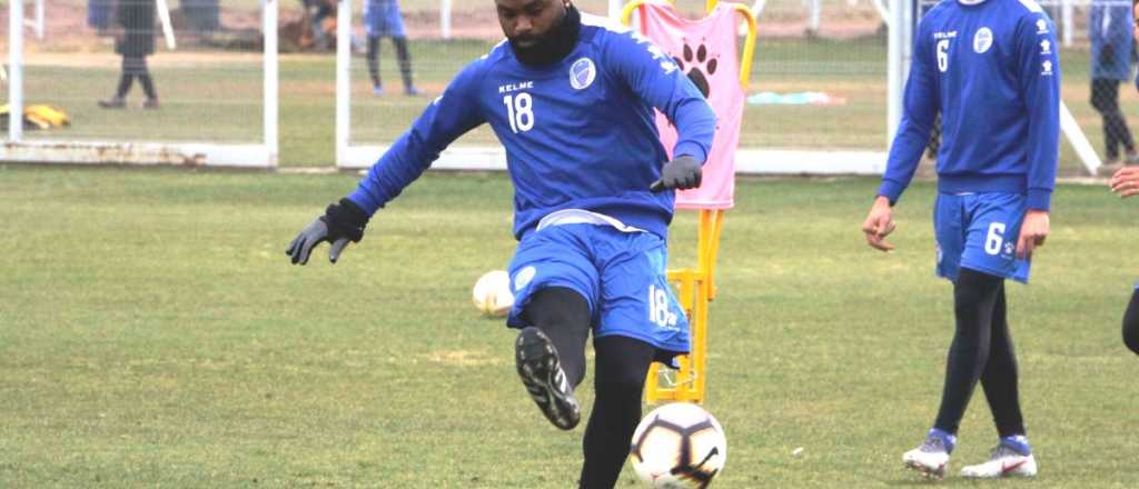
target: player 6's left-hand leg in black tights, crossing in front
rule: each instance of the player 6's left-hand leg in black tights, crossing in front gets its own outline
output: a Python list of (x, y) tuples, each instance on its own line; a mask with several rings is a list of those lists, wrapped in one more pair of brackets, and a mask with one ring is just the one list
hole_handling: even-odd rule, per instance
[(945, 386), (934, 428), (957, 433), (969, 397), (985, 370), (992, 339), (993, 310), (1005, 279), (961, 268), (953, 282), (957, 330), (949, 347)]

